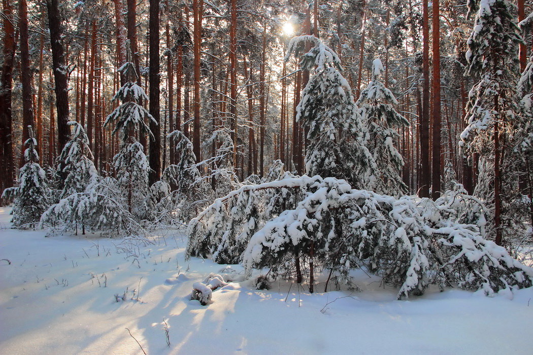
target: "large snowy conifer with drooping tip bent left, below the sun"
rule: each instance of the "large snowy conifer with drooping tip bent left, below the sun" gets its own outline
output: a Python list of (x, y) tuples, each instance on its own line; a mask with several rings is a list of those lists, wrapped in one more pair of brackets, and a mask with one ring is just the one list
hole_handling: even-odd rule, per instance
[(302, 91), (296, 120), (308, 130), (305, 174), (345, 179), (354, 188), (373, 189), (376, 164), (364, 145), (364, 127), (352, 90), (342, 74), (333, 49), (314, 36), (290, 40), (285, 60), (300, 55), (306, 44), (311, 50), (301, 56), (300, 67), (314, 74)]

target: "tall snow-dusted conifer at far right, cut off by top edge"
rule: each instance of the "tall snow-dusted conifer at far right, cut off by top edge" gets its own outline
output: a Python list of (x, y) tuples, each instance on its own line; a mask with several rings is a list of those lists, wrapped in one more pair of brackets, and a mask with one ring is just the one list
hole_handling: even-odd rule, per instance
[(516, 119), (514, 78), (518, 68), (516, 49), (521, 37), (514, 22), (513, 5), (507, 0), (470, 0), (475, 23), (467, 41), (466, 74), (479, 80), (470, 90), (467, 127), (459, 142), (463, 152), (479, 154), (478, 183), (474, 195), (491, 209), (489, 236), (498, 244), (519, 233), (513, 220), (515, 165), (508, 154), (508, 137)]

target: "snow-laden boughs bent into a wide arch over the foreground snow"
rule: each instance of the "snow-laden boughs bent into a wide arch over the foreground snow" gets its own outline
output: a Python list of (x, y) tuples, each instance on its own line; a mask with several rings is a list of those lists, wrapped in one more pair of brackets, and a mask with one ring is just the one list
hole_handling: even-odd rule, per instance
[(478, 225), (461, 223), (463, 217), (446, 201), (395, 199), (345, 180), (286, 175), (215, 200), (190, 222), (187, 255), (212, 254), (220, 263), (242, 262), (248, 275), (270, 268), (282, 277), (292, 277), (302, 258), (302, 265), (344, 283), (351, 269), (364, 267), (399, 286), (400, 299), (431, 284), (488, 295), (531, 286), (533, 270), (484, 240)]

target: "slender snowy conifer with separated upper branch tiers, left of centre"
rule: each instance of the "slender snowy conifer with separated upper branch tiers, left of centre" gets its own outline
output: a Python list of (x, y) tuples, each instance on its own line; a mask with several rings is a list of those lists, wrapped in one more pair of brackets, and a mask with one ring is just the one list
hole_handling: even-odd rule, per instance
[[(129, 54), (129, 52), (128, 52)], [(139, 100), (148, 100), (142, 87), (136, 83), (136, 72), (131, 61), (120, 67), (120, 72), (127, 78), (124, 86), (120, 87), (113, 100), (120, 100), (120, 104), (111, 112), (104, 126), (115, 122), (113, 133), (120, 131), (122, 143), (120, 151), (113, 158), (118, 188), (123, 192), (128, 211), (135, 217), (146, 218), (146, 199), (149, 195), (148, 173), (150, 166), (142, 145), (134, 138), (136, 133), (148, 134), (154, 138), (146, 120), (155, 122), (152, 115), (141, 105)]]

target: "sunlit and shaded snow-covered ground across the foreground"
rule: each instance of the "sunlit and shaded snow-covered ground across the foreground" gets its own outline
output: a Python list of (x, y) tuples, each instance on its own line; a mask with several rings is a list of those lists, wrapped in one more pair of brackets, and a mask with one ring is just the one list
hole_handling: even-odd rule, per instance
[(398, 290), (356, 273), (358, 293), (256, 291), (245, 280), (204, 307), (190, 300), (192, 284), (210, 273), (240, 280), (242, 268), (185, 261), (177, 231), (151, 243), (44, 237), (9, 229), (8, 213), (0, 208), (1, 354), (142, 354), (135, 339), (148, 354), (533, 353), (533, 288), (397, 301)]

